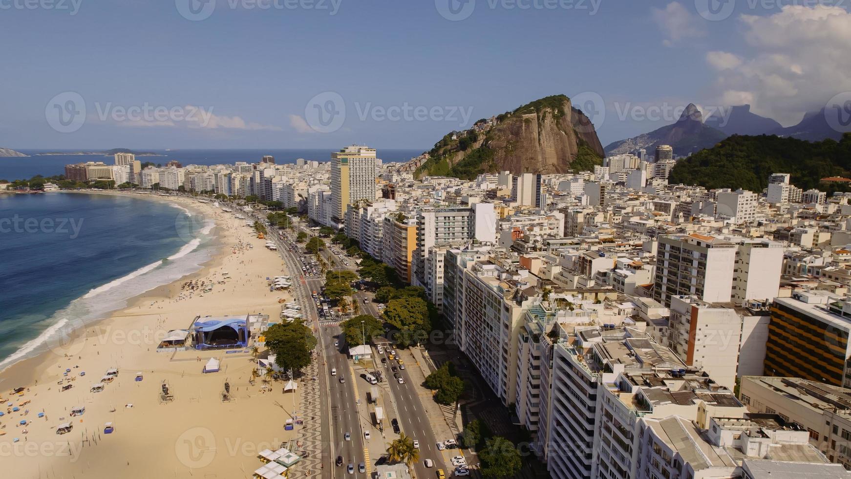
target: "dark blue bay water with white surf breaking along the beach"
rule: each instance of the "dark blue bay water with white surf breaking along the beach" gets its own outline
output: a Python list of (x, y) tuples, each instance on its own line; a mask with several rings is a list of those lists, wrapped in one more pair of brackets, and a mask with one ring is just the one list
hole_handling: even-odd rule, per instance
[(176, 204), (0, 195), (0, 370), (42, 351), (72, 354), (68, 339), (86, 324), (199, 270), (215, 246), (212, 222)]

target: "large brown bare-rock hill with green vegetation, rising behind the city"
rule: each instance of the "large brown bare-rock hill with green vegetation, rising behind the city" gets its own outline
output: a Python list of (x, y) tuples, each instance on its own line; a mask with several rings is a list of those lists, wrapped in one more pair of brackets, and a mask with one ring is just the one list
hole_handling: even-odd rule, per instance
[(559, 94), (447, 134), (414, 162), (411, 166), (418, 177), (440, 174), (473, 179), (505, 170), (554, 174), (602, 164), (603, 145), (591, 120)]

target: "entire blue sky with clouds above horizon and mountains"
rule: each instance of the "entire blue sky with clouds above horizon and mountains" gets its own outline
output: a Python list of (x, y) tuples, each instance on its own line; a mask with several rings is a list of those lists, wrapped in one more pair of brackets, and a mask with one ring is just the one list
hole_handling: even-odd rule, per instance
[(602, 106), (605, 145), (689, 102), (786, 125), (851, 90), (831, 4), (208, 0), (199, 20), (198, 0), (26, 1), (0, 0), (0, 147), (427, 149), (549, 94)]

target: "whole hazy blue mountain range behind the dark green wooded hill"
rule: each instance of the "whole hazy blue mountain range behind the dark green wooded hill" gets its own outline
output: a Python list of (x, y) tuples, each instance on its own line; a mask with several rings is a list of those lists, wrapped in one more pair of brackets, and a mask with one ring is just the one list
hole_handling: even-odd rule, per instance
[(691, 104), (677, 123), (633, 138), (615, 141), (606, 146), (606, 155), (628, 153), (638, 149), (645, 149), (652, 155), (656, 146), (671, 145), (675, 156), (686, 157), (711, 148), (734, 134), (773, 134), (808, 141), (842, 139), (842, 132), (831, 128), (827, 123), (824, 109), (807, 113), (801, 123), (784, 128), (771, 118), (752, 113), (751, 105), (736, 105), (716, 111), (704, 122), (697, 106)]

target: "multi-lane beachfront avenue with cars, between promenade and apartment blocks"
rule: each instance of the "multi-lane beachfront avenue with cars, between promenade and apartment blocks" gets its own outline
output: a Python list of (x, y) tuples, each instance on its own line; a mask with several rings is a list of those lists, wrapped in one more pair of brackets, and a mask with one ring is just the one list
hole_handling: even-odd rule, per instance
[[(257, 219), (263, 220), (262, 218)], [(332, 321), (328, 321), (328, 317), (323, 318), (323, 322), (320, 322), (320, 317), (317, 314), (316, 296), (313, 293), (322, 294), (324, 278), (318, 275), (306, 276), (304, 274), (302, 265), (309, 264), (310, 259), (306, 257), (300, 246), (294, 246), (294, 234), (285, 233), (285, 235), (283, 241), (274, 233), (270, 234), (269, 237), (277, 243), (278, 251), (287, 263), (291, 275), (300, 277), (299, 282), (294, 282), (293, 294), (302, 305), (306, 320), (311, 322), (318, 335), (317, 361), (321, 362), (318, 368), (320, 372), (318, 379), (320, 391), (323, 392), (321, 399), (322, 476), (333, 478), (371, 476), (374, 465), (380, 460), (380, 453), (383, 453), (386, 449), (386, 443), (384, 443), (379, 431), (375, 431), (371, 427), (371, 418), (367, 417), (366, 413), (359, 413), (359, 411), (366, 410), (366, 408), (358, 408), (357, 402), (366, 401), (369, 385), (365, 379), (354, 373), (352, 363), (346, 356), (346, 345), (342, 344), (340, 328)], [(340, 248), (332, 246), (330, 251), (328, 249), (323, 250), (322, 254), (329, 268), (357, 269), (356, 262), (348, 258)], [(340, 259), (340, 256), (343, 259)], [(344, 259), (348, 262), (348, 265), (346, 265)], [(367, 299), (366, 304), (363, 303), (363, 299)], [(362, 314), (380, 317), (380, 311), (372, 301), (372, 294), (357, 291), (353, 295), (353, 300), (357, 301)], [(405, 370), (397, 370), (404, 379), (404, 383), (399, 384), (397, 379), (394, 378), (395, 372), (391, 370), (392, 367), (398, 368), (398, 363), (387, 357), (388, 350), (389, 348), (385, 348), (382, 355), (387, 361), (381, 362), (381, 356), (377, 354), (375, 348), (373, 349), (375, 355), (374, 368), (380, 368), (384, 371), (386, 388), (389, 389), (391, 395), (385, 402), (387, 409), (386, 429), (391, 430), (391, 420), (397, 419), (401, 430), (420, 443), (420, 460), (413, 465), (416, 477), (436, 477), (437, 469), (443, 469), (447, 476), (450, 476), (453, 467), (448, 464), (447, 459), (452, 455), (452, 451), (437, 450), (437, 442), (448, 438), (435, 437), (429, 417), (422, 406), (422, 402), (420, 402), (420, 394), (426, 394), (428, 401), (431, 401), (431, 398), (427, 397), (426, 390), (421, 385), (408, 380), (407, 368), (417, 368), (418, 366), (413, 362), (406, 362)], [(405, 356), (412, 357), (410, 355)], [(336, 375), (331, 374), (332, 369), (336, 369)], [(341, 382), (340, 379), (343, 379), (344, 382)], [(433, 420), (443, 419), (434, 418)], [(364, 431), (370, 431), (372, 437), (369, 440), (364, 439)], [(346, 435), (348, 435), (348, 440), (346, 440)], [(370, 448), (373, 452), (372, 457), (370, 457)], [(457, 452), (457, 449), (454, 452)], [(342, 458), (342, 466), (335, 465), (338, 456)], [(431, 459), (434, 462), (431, 468), (426, 468), (426, 459)], [(363, 473), (359, 471), (358, 467), (362, 462), (365, 465), (365, 472)], [(350, 464), (354, 469), (351, 475), (347, 470)]]

